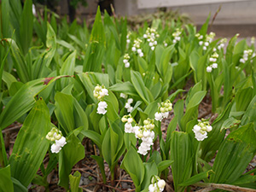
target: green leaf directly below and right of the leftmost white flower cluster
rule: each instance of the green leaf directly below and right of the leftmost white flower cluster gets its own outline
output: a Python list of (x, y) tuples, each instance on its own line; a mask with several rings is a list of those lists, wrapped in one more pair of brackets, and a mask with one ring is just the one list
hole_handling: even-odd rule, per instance
[(73, 134), (67, 137), (67, 144), (61, 149), (59, 154), (59, 185), (65, 189), (69, 188), (68, 175), (73, 166), (84, 159), (84, 146), (79, 138)]

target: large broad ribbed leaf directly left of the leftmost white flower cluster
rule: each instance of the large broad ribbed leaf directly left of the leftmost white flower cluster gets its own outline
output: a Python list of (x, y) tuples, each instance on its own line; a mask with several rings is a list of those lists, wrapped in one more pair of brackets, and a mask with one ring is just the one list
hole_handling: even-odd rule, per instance
[(49, 147), (49, 141), (45, 136), (50, 128), (49, 109), (45, 102), (39, 99), (27, 115), (9, 158), (12, 177), (26, 187), (31, 183), (44, 160)]

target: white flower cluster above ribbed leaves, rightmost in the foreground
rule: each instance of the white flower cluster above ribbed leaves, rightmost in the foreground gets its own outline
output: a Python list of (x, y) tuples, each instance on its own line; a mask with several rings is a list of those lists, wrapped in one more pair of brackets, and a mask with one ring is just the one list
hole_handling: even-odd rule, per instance
[(212, 131), (212, 126), (210, 125), (209, 121), (205, 119), (198, 120), (198, 124), (195, 125), (192, 129), (195, 133), (195, 138), (198, 141), (203, 141), (207, 138), (207, 132)]

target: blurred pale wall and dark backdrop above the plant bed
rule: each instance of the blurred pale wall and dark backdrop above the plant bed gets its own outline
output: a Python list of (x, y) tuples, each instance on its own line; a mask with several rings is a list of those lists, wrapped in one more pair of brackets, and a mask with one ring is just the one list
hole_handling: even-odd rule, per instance
[(131, 23), (143, 23), (152, 17), (167, 20), (179, 15), (200, 27), (211, 13), (210, 30), (218, 37), (236, 33), (241, 37), (253, 36), (256, 30), (255, 0), (34, 0), (33, 3), (37, 10), (47, 6), (58, 15), (68, 15), (67, 19), (76, 19), (79, 23), (93, 20), (100, 5), (102, 12), (106, 9), (109, 15), (128, 16)]

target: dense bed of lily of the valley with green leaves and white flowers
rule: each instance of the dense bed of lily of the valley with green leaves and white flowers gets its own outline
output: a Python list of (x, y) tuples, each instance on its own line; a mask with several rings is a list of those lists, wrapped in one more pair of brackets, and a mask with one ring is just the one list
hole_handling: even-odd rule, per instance
[(98, 9), (89, 30), (34, 17), (31, 0), (1, 9), (1, 191), (50, 191), (54, 170), (62, 190), (88, 190), (73, 166), (89, 148), (102, 191), (127, 191), (120, 170), (128, 191), (255, 191), (254, 44), (215, 39), (209, 17), (199, 32), (159, 19), (132, 31)]

